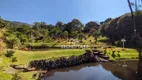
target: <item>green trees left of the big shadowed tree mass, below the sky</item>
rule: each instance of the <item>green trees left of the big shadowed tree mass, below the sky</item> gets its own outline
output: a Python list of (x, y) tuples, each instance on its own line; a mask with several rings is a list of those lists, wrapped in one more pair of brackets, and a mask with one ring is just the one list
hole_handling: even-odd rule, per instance
[(47, 24), (45, 22), (35, 22), (26, 24), (16, 21), (7, 21), (0, 19), (1, 39), (6, 43), (7, 48), (24, 48), (31, 46), (30, 43), (42, 43), (44, 47), (48, 47), (46, 43), (55, 45), (59, 40), (77, 39), (81, 41), (87, 38), (99, 29), (100, 24), (94, 21), (83, 25), (78, 19), (64, 24), (57, 22), (56, 25)]

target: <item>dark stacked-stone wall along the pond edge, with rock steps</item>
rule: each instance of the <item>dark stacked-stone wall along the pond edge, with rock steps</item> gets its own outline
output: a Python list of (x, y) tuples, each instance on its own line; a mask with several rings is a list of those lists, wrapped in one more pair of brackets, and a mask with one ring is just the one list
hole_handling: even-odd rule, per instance
[(68, 59), (65, 57), (61, 57), (52, 60), (34, 60), (30, 62), (30, 67), (34, 67), (36, 69), (49, 70), (55, 68), (63, 68), (69, 66), (75, 66), (83, 63), (89, 62), (107, 62), (109, 61), (109, 57), (104, 53), (98, 50), (92, 50), (92, 52), (84, 53), (80, 56), (71, 56)]

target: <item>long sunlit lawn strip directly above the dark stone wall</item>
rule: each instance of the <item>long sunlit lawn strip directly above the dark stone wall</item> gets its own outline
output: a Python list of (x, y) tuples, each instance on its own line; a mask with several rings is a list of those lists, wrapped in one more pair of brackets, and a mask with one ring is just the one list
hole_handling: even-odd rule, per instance
[(46, 50), (46, 51), (20, 51), (16, 50), (15, 56), (18, 59), (16, 63), (27, 64), (31, 60), (38, 59), (52, 59), (58, 57), (69, 57), (72, 55), (81, 55), (85, 52), (84, 49), (56, 49), (56, 50)]

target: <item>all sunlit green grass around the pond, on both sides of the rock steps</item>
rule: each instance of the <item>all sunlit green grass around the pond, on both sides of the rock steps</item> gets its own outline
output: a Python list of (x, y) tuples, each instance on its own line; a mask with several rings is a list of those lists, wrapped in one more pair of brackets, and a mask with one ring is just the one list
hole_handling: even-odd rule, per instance
[[(102, 50), (102, 49), (100, 49)], [(107, 49), (107, 53), (111, 59), (112, 51), (120, 51), (119, 54), (121, 55), (120, 58), (126, 59), (135, 59), (138, 58), (138, 51), (135, 49), (125, 49), (122, 48), (110, 48)], [(38, 60), (38, 59), (54, 59), (58, 57), (69, 57), (72, 55), (81, 55), (85, 52), (85, 49), (49, 49), (44, 51), (22, 51), (22, 50), (14, 50), (14, 57), (17, 57), (17, 62), (11, 62), (11, 58), (7, 58), (4, 55), (0, 56), (2, 58), (0, 62), (0, 80), (10, 80), (12, 75), (8, 74), (8, 70), (10, 69), (10, 64), (18, 64), (18, 65), (28, 65), (31, 60)], [(115, 54), (118, 54), (117, 52)], [(117, 57), (116, 57), (117, 58)], [(1, 68), (2, 67), (2, 68)], [(31, 80), (31, 76), (34, 72), (27, 72), (22, 73), (24, 80)]]

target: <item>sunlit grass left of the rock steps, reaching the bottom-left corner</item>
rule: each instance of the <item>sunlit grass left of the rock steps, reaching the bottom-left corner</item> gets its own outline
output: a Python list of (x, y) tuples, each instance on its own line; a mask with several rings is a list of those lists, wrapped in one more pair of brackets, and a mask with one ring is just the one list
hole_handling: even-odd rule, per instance
[[(85, 52), (84, 49), (55, 49), (55, 50), (45, 50), (45, 51), (21, 51), (14, 50), (14, 57), (17, 57), (17, 62), (11, 62), (11, 58), (7, 58), (4, 55), (0, 56), (2, 58), (0, 66), (0, 80), (11, 80), (11, 74), (8, 74), (11, 70), (10, 64), (18, 64), (18, 65), (28, 65), (31, 60), (38, 59), (53, 59), (62, 56), (72, 56), (72, 55), (81, 55)], [(16, 70), (14, 70), (16, 71)], [(33, 72), (22, 73), (22, 76), (31, 79)], [(26, 79), (27, 80), (27, 79)]]

